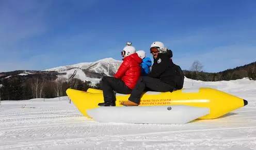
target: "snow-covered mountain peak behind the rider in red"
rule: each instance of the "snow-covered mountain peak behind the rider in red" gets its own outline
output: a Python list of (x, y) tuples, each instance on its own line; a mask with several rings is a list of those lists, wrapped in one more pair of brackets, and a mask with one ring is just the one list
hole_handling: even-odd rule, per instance
[(105, 58), (95, 62), (82, 62), (73, 65), (58, 66), (43, 71), (55, 71), (60, 73), (58, 78), (77, 78), (82, 81), (90, 81), (92, 85), (100, 82), (103, 76), (113, 76), (119, 68), (121, 61), (113, 58)]

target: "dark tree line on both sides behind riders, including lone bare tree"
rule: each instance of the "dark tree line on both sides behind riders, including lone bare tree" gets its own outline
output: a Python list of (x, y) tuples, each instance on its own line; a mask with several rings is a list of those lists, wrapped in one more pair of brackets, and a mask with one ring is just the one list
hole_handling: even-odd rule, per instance
[[(68, 79), (58, 78), (56, 72), (38, 72), (20, 76), (22, 71), (14, 71), (1, 76), (0, 74), (0, 100), (23, 100), (31, 98), (54, 98), (66, 96), (68, 88), (86, 91), (90, 87), (89, 81), (74, 78), (74, 72)], [(189, 71), (183, 71), (190, 79), (202, 81), (234, 80), (249, 77), (256, 80), (256, 62), (239, 66), (234, 69), (218, 73), (203, 72), (203, 65), (194, 61)], [(9, 77), (11, 76), (11, 77)], [(100, 83), (92, 88), (100, 88)]]

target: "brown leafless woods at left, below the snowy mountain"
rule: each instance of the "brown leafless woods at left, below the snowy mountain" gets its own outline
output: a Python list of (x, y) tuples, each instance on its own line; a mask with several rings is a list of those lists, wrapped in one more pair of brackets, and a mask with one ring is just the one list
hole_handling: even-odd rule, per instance
[(89, 82), (80, 79), (45, 79), (40, 76), (23, 79), (19, 76), (2, 79), (0, 100), (23, 100), (31, 98), (54, 98), (66, 96), (68, 88), (87, 90)]

